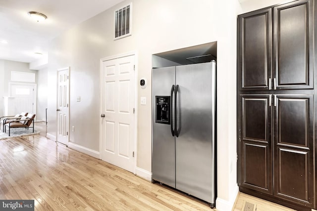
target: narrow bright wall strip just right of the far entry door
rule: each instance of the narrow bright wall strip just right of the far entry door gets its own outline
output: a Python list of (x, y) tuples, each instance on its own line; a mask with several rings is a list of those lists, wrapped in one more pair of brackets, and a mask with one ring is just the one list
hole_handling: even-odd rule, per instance
[(37, 72), (37, 120), (46, 121), (46, 108), (48, 107), (48, 68), (41, 69)]

